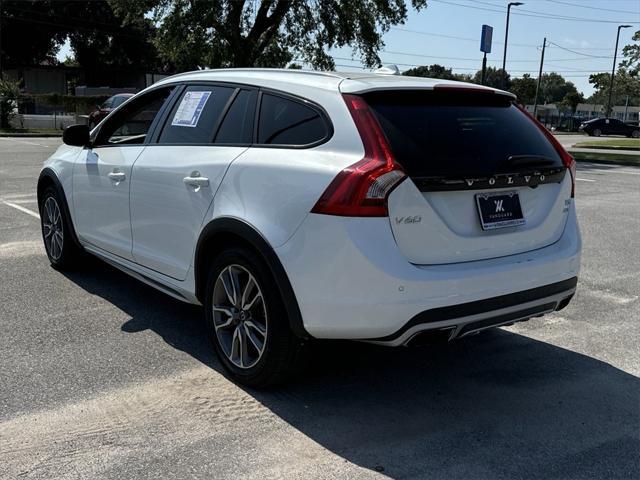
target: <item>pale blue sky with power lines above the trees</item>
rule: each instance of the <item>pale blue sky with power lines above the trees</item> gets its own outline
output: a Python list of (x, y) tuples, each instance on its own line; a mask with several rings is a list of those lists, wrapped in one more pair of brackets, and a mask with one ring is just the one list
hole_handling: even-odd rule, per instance
[[(620, 32), (622, 47), (640, 30), (640, 0), (522, 0), (512, 7), (509, 24), (507, 71), (512, 77), (538, 76), (544, 37), (547, 50), (543, 72), (558, 72), (576, 84), (585, 96), (593, 89), (589, 74), (611, 72), (616, 31), (620, 24), (632, 28)], [(410, 9), (404, 25), (384, 35), (380, 52), (384, 64), (400, 70), (439, 63), (456, 73), (475, 73), (482, 67), (480, 32), (483, 24), (493, 27), (492, 52), (487, 65), (502, 66), (507, 1), (428, 0), (419, 12)], [(564, 17), (564, 18), (558, 18)], [(569, 51), (571, 50), (571, 51)], [(58, 57), (69, 55), (68, 44)], [(360, 70), (359, 57), (350, 48), (330, 52), (337, 70)], [(619, 63), (619, 60), (618, 62)]]

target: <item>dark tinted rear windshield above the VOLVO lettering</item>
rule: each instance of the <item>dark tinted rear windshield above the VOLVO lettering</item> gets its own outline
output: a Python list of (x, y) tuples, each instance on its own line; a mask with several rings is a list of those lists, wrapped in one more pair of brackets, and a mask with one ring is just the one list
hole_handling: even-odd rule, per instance
[(523, 165), (562, 166), (544, 134), (502, 95), (385, 91), (364, 97), (409, 176), (482, 176)]

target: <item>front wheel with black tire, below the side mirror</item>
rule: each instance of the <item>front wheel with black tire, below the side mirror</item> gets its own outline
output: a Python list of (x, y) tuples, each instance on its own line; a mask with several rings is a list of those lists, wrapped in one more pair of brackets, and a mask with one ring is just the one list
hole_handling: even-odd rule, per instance
[(45, 189), (39, 205), (40, 227), (51, 265), (59, 270), (69, 270), (80, 264), (85, 253), (73, 238), (71, 219), (63, 202), (57, 189)]

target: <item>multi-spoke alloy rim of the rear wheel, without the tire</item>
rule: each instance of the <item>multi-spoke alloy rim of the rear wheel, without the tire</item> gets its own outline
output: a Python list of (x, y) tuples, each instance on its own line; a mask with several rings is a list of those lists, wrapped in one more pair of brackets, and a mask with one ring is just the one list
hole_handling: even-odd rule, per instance
[(218, 343), (238, 368), (251, 368), (267, 342), (267, 309), (255, 277), (241, 265), (222, 269), (213, 287), (213, 323)]

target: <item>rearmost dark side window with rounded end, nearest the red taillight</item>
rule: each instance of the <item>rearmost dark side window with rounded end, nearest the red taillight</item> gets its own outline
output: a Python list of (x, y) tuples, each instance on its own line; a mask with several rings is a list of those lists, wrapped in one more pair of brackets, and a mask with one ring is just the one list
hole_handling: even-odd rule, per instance
[(262, 95), (258, 143), (309, 145), (328, 133), (327, 125), (314, 108), (288, 98)]

